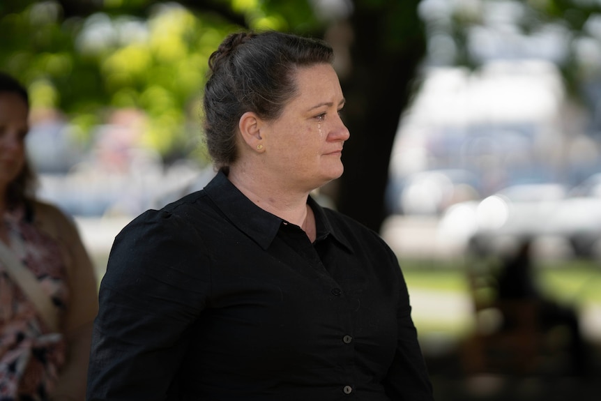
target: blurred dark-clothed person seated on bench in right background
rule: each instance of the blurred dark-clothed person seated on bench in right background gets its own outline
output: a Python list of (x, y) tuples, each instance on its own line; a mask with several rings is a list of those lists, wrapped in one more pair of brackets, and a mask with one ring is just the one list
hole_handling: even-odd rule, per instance
[(582, 338), (577, 312), (568, 305), (542, 294), (535, 277), (532, 261), (532, 240), (522, 239), (512, 255), (505, 258), (497, 275), (497, 298), (503, 300), (535, 301), (538, 326), (542, 331), (563, 326), (570, 333), (569, 351), (572, 357), (570, 374), (585, 376), (591, 368)]

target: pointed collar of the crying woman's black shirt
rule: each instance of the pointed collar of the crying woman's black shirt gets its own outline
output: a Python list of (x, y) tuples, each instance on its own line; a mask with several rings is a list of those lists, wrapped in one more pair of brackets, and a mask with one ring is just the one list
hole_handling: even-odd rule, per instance
[[(206, 194), (238, 229), (267, 249), (277, 235), (282, 218), (277, 217), (254, 204), (232, 184), (224, 172), (220, 171), (204, 188)], [(337, 242), (351, 250), (349, 241), (340, 229), (335, 229), (322, 208), (312, 197), (307, 203), (313, 209), (317, 225), (317, 241), (332, 236)]]

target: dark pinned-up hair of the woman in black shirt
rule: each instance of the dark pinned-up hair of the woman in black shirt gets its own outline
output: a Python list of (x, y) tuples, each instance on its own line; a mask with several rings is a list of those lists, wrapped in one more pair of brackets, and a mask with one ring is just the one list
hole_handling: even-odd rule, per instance
[(276, 119), (298, 93), (298, 67), (332, 63), (330, 45), (277, 31), (231, 33), (208, 59), (204, 135), (216, 168), (238, 158), (236, 132), (245, 112)]

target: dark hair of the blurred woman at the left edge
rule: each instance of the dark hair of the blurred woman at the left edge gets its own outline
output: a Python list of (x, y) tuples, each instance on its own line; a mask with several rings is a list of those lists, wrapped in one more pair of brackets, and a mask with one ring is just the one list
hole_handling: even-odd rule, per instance
[[(2, 93), (17, 94), (29, 110), (29, 95), (25, 87), (12, 76), (0, 72), (0, 94)], [(25, 202), (28, 197), (33, 195), (35, 183), (36, 176), (33, 174), (33, 169), (31, 169), (29, 161), (25, 160), (21, 172), (6, 188), (6, 206), (13, 208), (17, 204)]]

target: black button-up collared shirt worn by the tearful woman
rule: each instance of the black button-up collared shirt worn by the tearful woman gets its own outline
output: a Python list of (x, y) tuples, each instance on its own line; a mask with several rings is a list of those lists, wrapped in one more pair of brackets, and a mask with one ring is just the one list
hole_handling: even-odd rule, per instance
[(309, 199), (317, 240), (219, 173), (116, 236), (88, 401), (432, 400), (395, 254)]

